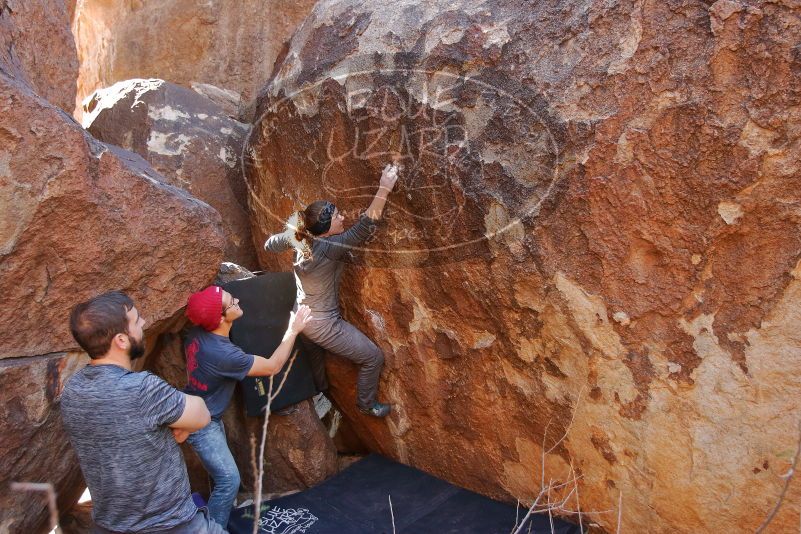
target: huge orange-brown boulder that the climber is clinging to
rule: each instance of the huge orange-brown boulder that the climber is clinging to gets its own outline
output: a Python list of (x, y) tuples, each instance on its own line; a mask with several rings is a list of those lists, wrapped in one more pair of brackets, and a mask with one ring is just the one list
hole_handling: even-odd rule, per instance
[(799, 441), (797, 9), (316, 5), (258, 103), (254, 234), (404, 166), (342, 287), (387, 422), (330, 362), (369, 447), (508, 500), (573, 465), (608, 531), (759, 526)]

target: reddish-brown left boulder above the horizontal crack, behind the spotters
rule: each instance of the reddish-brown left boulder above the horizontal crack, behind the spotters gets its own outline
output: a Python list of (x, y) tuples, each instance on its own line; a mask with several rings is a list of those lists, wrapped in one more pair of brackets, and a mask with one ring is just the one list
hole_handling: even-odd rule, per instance
[(0, 358), (77, 348), (71, 306), (109, 289), (129, 292), (151, 324), (171, 317), (216, 272), (217, 212), (24, 86), (0, 83), (0, 291), (25, 310), (0, 319)]

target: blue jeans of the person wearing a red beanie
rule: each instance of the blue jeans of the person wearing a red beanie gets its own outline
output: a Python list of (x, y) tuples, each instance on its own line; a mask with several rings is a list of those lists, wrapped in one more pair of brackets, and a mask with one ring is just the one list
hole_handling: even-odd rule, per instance
[(239, 469), (225, 441), (222, 421), (212, 419), (205, 428), (190, 434), (187, 441), (214, 481), (214, 489), (209, 497), (209, 515), (218, 525), (226, 528), (239, 492)]

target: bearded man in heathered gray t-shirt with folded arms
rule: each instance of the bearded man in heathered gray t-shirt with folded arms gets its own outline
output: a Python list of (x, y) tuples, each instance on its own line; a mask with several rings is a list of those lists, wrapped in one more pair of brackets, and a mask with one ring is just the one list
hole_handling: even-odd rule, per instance
[(96, 533), (219, 534), (192, 502), (178, 446), (210, 420), (202, 399), (131, 361), (144, 354), (144, 320), (110, 292), (77, 305), (72, 334), (88, 366), (64, 387), (61, 414), (92, 495)]

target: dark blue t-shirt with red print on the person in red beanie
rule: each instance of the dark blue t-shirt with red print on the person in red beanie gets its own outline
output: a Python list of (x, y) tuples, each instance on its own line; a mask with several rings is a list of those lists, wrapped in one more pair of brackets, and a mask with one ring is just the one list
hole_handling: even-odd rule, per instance
[(187, 382), (184, 393), (206, 401), (211, 417), (219, 419), (231, 401), (237, 381), (253, 367), (253, 355), (226, 336), (202, 328), (190, 330), (184, 343)]

